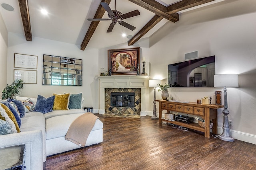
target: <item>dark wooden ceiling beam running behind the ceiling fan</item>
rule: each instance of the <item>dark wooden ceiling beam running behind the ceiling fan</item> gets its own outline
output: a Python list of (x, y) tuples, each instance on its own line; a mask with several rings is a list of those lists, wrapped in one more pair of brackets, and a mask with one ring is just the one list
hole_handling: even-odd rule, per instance
[[(106, 3), (110, 3), (111, 0), (102, 0), (101, 2), (106, 2)], [(100, 4), (97, 11), (96, 11), (96, 14), (94, 16), (94, 18), (102, 18), (102, 16), (104, 15), (105, 13), (105, 9), (102, 7), (102, 5)], [(86, 35), (84, 37), (84, 40), (81, 44), (81, 47), (80, 49), (81, 50), (84, 50), (86, 48), (86, 46), (88, 45), (94, 31), (96, 30), (98, 24), (100, 23), (100, 21), (92, 21), (91, 24), (90, 24), (90, 27), (88, 29), (88, 31), (86, 32)]]

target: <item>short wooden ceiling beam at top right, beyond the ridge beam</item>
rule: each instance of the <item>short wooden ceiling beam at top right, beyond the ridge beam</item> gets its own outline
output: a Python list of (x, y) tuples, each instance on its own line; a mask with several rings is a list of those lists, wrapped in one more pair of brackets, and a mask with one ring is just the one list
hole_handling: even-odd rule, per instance
[(194, 6), (202, 5), (214, 0), (182, 0), (176, 2), (175, 4), (171, 4), (166, 7), (166, 12), (168, 14), (173, 14), (182, 10), (186, 10), (188, 8), (192, 8)]

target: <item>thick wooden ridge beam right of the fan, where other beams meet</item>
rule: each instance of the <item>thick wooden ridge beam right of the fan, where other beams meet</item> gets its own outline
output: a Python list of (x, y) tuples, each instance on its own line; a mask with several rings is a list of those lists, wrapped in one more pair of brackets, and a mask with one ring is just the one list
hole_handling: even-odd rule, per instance
[(158, 16), (161, 16), (162, 18), (165, 18), (167, 20), (170, 20), (172, 22), (176, 22), (179, 20), (179, 14), (167, 14), (166, 13), (166, 6), (160, 4), (159, 2), (155, 0), (129, 0), (130, 2), (133, 2), (134, 4), (137, 4), (138, 6), (141, 6), (142, 8), (145, 8), (153, 13), (155, 13)]

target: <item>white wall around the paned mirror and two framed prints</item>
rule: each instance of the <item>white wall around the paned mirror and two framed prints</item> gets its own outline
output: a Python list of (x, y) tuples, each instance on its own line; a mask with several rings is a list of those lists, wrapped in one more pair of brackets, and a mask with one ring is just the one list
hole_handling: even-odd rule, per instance
[[(80, 47), (73, 44), (38, 37), (33, 37), (32, 41), (26, 41), (24, 35), (8, 33), (8, 83), (13, 82), (14, 78), (14, 53), (38, 56), (37, 84), (25, 84), (20, 96), (37, 98), (38, 94), (48, 97), (53, 92), (57, 94), (83, 92), (84, 106), (98, 108), (98, 80), (95, 79), (95, 76), (98, 76), (98, 49), (88, 48), (81, 51)], [(44, 54), (82, 59), (82, 86), (42, 85)], [(26, 70), (26, 68), (15, 69)]]

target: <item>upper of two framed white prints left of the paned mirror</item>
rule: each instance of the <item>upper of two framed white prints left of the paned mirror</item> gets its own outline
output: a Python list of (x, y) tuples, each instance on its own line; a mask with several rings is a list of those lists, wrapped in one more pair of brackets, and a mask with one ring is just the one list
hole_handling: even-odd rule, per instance
[(14, 67), (37, 69), (37, 56), (14, 53)]

